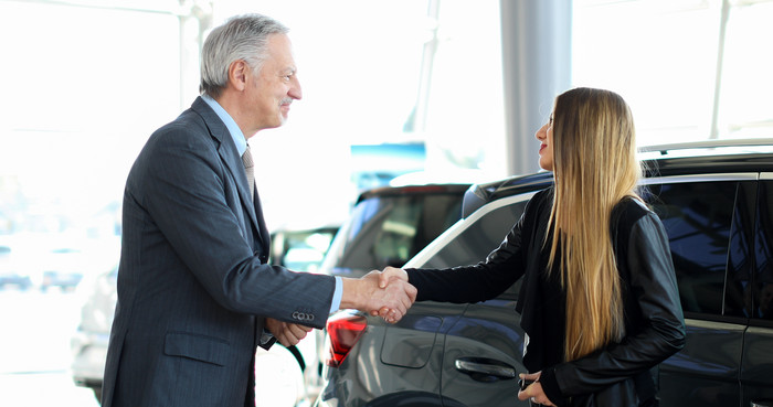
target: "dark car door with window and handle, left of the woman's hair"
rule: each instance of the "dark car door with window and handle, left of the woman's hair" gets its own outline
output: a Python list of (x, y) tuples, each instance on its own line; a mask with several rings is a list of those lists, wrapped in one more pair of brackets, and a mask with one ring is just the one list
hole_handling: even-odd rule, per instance
[[(442, 268), (476, 264), (497, 248), (532, 194), (498, 201), (469, 217), (459, 232), (424, 265)], [(468, 304), (444, 338), (441, 394), (445, 406), (528, 406), (518, 401), (523, 331), (518, 325), (519, 282), (496, 299)]]

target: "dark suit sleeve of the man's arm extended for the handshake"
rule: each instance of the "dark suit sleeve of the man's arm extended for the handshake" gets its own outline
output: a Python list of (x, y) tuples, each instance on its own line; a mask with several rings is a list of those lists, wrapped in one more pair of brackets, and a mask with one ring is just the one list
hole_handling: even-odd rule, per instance
[(160, 231), (159, 240), (168, 240), (179, 258), (157, 261), (182, 261), (226, 309), (287, 322), (298, 322), (293, 315), (300, 312), (313, 315), (305, 324), (324, 326), (333, 278), (261, 264), (244, 236), (250, 221), (237, 206), (236, 181), (207, 138), (172, 125), (149, 144), (137, 164), (139, 176), (127, 183), (127, 194)]

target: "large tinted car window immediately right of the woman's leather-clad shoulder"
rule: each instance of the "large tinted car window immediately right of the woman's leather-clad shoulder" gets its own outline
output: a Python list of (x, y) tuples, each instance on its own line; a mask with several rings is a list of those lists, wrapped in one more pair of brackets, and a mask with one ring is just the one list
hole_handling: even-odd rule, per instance
[[(686, 314), (721, 315), (728, 247), (739, 182), (648, 185), (647, 199), (660, 217), (671, 248)], [(729, 304), (732, 306), (732, 304)], [(740, 302), (726, 314), (741, 313)]]

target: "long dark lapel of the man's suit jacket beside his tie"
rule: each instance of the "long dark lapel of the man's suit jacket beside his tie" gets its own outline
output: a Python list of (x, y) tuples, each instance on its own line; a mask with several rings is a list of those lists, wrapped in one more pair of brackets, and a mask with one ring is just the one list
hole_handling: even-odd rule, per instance
[(225, 164), (225, 168), (229, 170), (229, 172), (231, 172), (231, 176), (233, 176), (233, 179), (236, 181), (239, 197), (242, 201), (244, 211), (250, 217), (253, 235), (257, 236), (257, 240), (261, 243), (263, 253), (267, 255), (271, 240), (265, 219), (263, 218), (263, 211), (257, 197), (257, 191), (255, 191), (255, 200), (253, 201), (253, 199), (250, 196), (250, 185), (247, 183), (247, 175), (244, 172), (242, 158), (236, 151), (236, 146), (233, 142), (229, 129), (201, 97), (198, 97), (195, 101), (193, 101), (191, 108), (201, 115), (210, 130), (210, 135), (220, 142), (218, 153)]

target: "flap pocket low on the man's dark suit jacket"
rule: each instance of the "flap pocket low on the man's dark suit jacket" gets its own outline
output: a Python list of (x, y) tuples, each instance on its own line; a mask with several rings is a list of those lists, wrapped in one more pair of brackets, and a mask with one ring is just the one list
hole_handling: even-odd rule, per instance
[(224, 366), (229, 343), (219, 338), (188, 332), (169, 332), (163, 341), (163, 353)]

